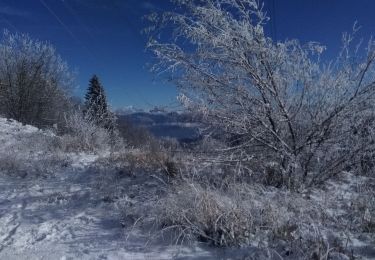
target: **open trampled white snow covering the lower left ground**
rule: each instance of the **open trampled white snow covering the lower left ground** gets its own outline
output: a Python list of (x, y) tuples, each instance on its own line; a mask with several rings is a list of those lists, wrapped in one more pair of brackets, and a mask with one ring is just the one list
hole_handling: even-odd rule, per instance
[[(0, 158), (11, 160), (9, 157), (17, 154), (20, 159), (38, 160), (38, 154), (43, 155), (38, 147), (23, 146), (37, 135), (51, 133), (0, 118)], [(137, 230), (121, 225), (121, 211), (106, 196), (114, 185), (132, 185), (131, 179), (124, 179), (123, 184), (106, 180), (102, 172), (94, 170), (97, 155), (64, 156), (69, 165), (47, 175), (28, 174), (27, 165), (21, 165), (26, 171), (22, 176), (0, 172), (0, 259), (183, 259), (210, 255), (198, 249), (148, 246)]]

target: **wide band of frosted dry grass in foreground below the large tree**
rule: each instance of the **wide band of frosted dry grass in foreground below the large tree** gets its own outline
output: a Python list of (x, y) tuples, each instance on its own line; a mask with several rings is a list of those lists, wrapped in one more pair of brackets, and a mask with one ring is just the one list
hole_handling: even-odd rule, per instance
[[(225, 190), (192, 180), (180, 183), (142, 213), (126, 214), (159, 227), (174, 243), (195, 240), (219, 247), (257, 247), (293, 259), (326, 259), (351, 252), (334, 231), (340, 222), (329, 219), (329, 209), (289, 192), (235, 184)], [(142, 207), (137, 207), (142, 208)], [(343, 228), (340, 226), (340, 228)]]

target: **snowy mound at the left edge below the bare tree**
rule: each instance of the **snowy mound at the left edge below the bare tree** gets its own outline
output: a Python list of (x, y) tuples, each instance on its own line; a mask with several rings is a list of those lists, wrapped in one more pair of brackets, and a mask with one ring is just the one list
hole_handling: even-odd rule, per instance
[(68, 167), (60, 139), (50, 131), (0, 118), (0, 173), (17, 177), (46, 176)]

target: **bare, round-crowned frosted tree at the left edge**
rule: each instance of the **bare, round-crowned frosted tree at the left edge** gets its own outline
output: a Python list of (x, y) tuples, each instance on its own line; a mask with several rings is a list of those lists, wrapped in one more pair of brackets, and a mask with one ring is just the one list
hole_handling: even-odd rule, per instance
[(58, 123), (73, 74), (51, 44), (5, 31), (0, 42), (0, 113), (38, 127)]

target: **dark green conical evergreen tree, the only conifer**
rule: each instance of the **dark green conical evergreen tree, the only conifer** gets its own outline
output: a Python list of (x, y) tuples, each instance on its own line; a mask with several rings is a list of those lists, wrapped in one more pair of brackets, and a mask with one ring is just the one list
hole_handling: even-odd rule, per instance
[(114, 130), (114, 115), (109, 110), (104, 88), (100, 84), (99, 78), (94, 75), (90, 79), (90, 84), (85, 95), (85, 118), (93, 120), (97, 125)]

